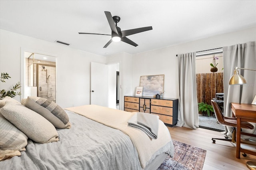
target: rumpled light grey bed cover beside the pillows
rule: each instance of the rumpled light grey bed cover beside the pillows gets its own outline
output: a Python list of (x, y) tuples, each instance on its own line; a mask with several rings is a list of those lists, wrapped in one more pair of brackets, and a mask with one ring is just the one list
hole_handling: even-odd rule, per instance
[(0, 161), (3, 170), (140, 170), (129, 136), (84, 116), (66, 111), (72, 127), (57, 129), (59, 141), (28, 140), (21, 156)]

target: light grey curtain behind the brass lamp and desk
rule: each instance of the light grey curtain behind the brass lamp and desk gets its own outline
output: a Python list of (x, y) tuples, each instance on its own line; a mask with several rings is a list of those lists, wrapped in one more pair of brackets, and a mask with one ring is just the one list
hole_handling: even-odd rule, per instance
[[(256, 42), (247, 42), (223, 47), (224, 65), (224, 109), (227, 117), (232, 117), (230, 103), (252, 103), (256, 95), (256, 71), (238, 69), (246, 79), (245, 85), (229, 85), (229, 79), (234, 74), (234, 67), (256, 69)], [(256, 123), (252, 123), (255, 127)], [(244, 132), (254, 133), (253, 130), (243, 129)], [(230, 133), (231, 128), (226, 128)], [(246, 136), (241, 136), (246, 138)]]

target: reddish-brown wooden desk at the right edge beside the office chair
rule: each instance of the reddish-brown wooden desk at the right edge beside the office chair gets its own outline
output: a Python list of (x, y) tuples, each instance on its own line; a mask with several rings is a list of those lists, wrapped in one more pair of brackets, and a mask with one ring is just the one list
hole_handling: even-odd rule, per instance
[(254, 136), (255, 134), (249, 134), (241, 132), (241, 121), (255, 122), (256, 123), (256, 105), (244, 104), (244, 103), (231, 103), (231, 109), (234, 116), (237, 118), (236, 128), (236, 158), (240, 158), (240, 152), (256, 155), (256, 152), (240, 148), (241, 146), (241, 134), (248, 136)]

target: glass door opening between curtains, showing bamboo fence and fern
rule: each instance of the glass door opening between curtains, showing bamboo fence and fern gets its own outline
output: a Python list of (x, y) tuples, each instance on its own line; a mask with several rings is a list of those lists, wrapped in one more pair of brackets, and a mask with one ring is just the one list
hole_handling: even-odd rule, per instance
[[(211, 63), (217, 65), (218, 71), (211, 72)], [(223, 53), (207, 53), (196, 56), (196, 83), (198, 99), (199, 127), (216, 131), (224, 131), (215, 114), (210, 111), (211, 100), (214, 99), (223, 111), (224, 89), (223, 89)], [(202, 109), (199, 109), (202, 108)], [(210, 112), (207, 112), (207, 111)]]

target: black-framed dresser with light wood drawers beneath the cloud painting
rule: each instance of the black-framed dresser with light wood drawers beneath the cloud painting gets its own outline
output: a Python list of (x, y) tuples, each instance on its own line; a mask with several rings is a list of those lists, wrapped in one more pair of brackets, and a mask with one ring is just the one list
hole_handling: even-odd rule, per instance
[(178, 99), (124, 96), (124, 111), (158, 115), (161, 121), (172, 127), (178, 121)]

